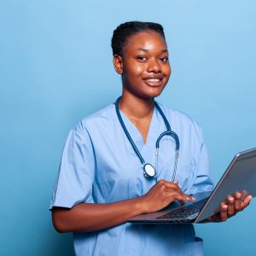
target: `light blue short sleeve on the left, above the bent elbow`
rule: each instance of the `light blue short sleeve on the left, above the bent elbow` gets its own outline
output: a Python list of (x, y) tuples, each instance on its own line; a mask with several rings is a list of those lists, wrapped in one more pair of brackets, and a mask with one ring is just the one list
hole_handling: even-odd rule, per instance
[(92, 202), (95, 166), (90, 135), (79, 124), (68, 134), (49, 210)]

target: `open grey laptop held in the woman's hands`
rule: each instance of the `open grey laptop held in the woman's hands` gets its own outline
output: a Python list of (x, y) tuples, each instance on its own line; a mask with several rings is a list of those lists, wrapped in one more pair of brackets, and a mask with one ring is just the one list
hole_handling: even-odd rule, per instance
[(180, 204), (172, 202), (159, 212), (152, 212), (130, 218), (133, 224), (188, 224), (220, 212), (219, 204), (228, 195), (246, 190), (247, 195), (256, 196), (256, 148), (236, 154), (212, 192), (193, 195), (195, 201)]

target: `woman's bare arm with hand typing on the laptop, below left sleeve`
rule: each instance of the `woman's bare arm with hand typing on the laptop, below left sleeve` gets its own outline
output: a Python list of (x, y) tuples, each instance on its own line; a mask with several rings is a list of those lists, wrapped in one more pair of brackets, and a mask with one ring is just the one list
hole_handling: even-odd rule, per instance
[(156, 212), (172, 201), (194, 201), (183, 194), (177, 182), (160, 180), (146, 195), (109, 204), (81, 203), (71, 209), (54, 207), (52, 220), (59, 232), (90, 232), (103, 230), (142, 213)]

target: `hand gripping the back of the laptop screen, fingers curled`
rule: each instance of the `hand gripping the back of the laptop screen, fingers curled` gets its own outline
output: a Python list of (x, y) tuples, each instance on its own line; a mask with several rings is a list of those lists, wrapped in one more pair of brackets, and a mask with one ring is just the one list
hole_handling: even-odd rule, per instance
[(220, 203), (220, 212), (203, 220), (202, 223), (226, 221), (227, 218), (233, 217), (237, 212), (241, 212), (246, 208), (252, 198), (252, 195), (247, 195), (246, 190), (237, 191), (234, 195), (229, 195), (225, 201)]

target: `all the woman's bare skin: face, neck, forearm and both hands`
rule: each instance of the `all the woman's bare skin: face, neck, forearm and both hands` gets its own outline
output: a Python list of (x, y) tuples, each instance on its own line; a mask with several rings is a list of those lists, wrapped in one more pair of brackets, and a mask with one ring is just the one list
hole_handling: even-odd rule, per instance
[[(157, 32), (139, 32), (128, 38), (122, 55), (113, 56), (113, 67), (122, 76), (120, 110), (137, 126), (144, 143), (154, 111), (154, 97), (160, 96), (171, 75), (166, 41)], [(110, 204), (80, 203), (71, 209), (54, 207), (52, 220), (59, 232), (103, 230), (142, 213), (156, 212), (172, 201), (194, 201), (173, 183), (160, 180), (147, 194)], [(243, 210), (251, 196), (237, 192), (221, 203), (221, 212), (206, 222), (224, 221)]]

